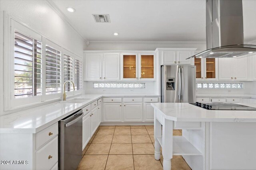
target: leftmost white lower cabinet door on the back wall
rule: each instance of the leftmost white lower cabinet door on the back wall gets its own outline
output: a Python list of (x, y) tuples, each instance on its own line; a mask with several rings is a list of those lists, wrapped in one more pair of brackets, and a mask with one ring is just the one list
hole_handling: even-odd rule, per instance
[(103, 121), (122, 121), (122, 103), (104, 103)]

